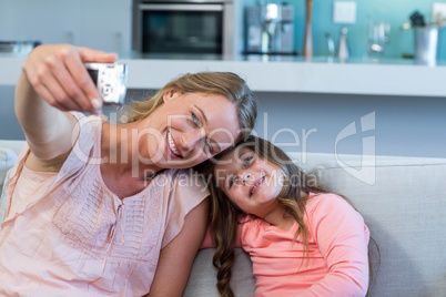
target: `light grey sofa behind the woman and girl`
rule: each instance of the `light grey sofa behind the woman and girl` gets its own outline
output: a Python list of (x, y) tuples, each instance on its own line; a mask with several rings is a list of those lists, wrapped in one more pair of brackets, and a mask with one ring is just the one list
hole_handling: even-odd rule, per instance
[[(0, 141), (0, 188), (22, 144)], [(346, 195), (364, 216), (379, 248), (379, 257), (372, 249), (376, 272), (371, 296), (446, 296), (446, 158), (290, 155), (331, 191)], [(4, 195), (0, 197), (4, 208)], [(213, 253), (197, 253), (184, 297), (219, 296)], [(241, 248), (231, 281), (235, 296), (254, 296), (252, 264)]]

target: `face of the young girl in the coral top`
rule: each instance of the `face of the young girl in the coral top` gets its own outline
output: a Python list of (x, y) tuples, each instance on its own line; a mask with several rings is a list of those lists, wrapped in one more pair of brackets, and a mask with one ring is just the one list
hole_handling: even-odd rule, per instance
[(215, 177), (220, 188), (246, 214), (265, 218), (278, 206), (284, 174), (249, 148), (234, 150), (219, 160)]

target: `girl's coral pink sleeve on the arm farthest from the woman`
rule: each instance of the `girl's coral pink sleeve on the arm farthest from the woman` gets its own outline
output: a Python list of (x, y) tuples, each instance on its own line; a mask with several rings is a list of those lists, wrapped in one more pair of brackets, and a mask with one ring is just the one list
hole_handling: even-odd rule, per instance
[(324, 195), (308, 213), (310, 228), (330, 273), (303, 296), (365, 296), (368, 286), (368, 228), (342, 197)]

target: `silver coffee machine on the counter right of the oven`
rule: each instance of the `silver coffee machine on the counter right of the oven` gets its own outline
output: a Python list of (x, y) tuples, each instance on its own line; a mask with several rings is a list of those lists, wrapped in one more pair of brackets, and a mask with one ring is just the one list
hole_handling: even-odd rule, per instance
[(246, 8), (245, 53), (295, 54), (294, 8), (264, 3)]

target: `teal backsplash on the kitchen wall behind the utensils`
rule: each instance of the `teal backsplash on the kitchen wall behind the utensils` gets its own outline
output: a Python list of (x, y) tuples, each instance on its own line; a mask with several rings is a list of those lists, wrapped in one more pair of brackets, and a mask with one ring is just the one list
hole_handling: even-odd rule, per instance
[[(274, 2), (274, 1), (271, 1)], [(305, 23), (305, 0), (283, 1), (295, 7), (295, 45), (302, 52)], [(391, 24), (389, 43), (383, 58), (402, 58), (414, 54), (414, 30), (402, 30), (402, 24), (409, 21), (409, 16), (418, 10), (427, 22), (432, 21), (434, 2), (438, 0), (357, 0), (356, 23), (339, 24), (333, 22), (334, 0), (314, 0), (313, 2), (313, 47), (314, 55), (327, 55), (328, 48), (325, 33), (330, 33), (337, 47), (339, 29), (348, 28), (348, 45), (352, 58), (366, 57), (368, 20), (386, 21)], [(446, 60), (446, 29), (439, 31), (438, 59)]]

